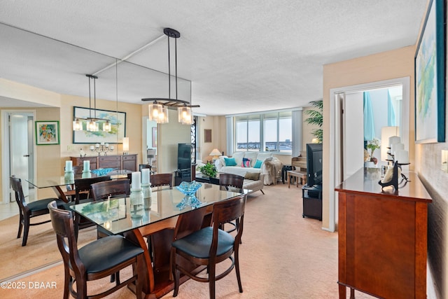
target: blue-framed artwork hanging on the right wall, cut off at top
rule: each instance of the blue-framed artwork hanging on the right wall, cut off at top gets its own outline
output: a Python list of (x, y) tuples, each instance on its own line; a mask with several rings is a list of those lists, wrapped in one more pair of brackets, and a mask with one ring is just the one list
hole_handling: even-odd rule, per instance
[(430, 0), (415, 53), (415, 141), (445, 139), (444, 0)]

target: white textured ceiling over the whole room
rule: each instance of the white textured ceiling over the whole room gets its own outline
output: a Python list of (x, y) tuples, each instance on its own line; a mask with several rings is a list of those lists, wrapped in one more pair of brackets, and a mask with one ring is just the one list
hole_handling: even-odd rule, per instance
[(181, 32), (178, 72), (187, 80), (179, 83), (179, 99), (190, 97), (190, 81), (192, 104), (201, 106), (196, 112), (307, 106), (323, 97), (324, 64), (414, 45), (426, 2), (1, 1), (0, 77), (85, 97), (85, 74), (155, 41), (132, 64), (119, 65), (118, 88), (116, 69), (98, 74), (97, 97), (138, 104), (167, 97), (167, 76), (149, 69), (167, 72), (162, 31), (171, 27)]

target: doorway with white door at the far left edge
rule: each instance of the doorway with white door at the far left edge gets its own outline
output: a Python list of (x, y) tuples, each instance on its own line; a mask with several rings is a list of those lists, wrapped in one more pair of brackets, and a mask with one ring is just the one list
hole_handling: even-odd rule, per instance
[[(15, 200), (10, 189), (9, 177), (14, 174), (22, 179), (22, 188), (29, 201), (35, 200), (36, 193), (30, 193), (27, 179), (34, 177), (35, 145), (34, 118), (36, 111), (2, 111), (2, 201), (6, 204)], [(24, 134), (25, 132), (25, 134)], [(31, 198), (33, 197), (33, 198)]]

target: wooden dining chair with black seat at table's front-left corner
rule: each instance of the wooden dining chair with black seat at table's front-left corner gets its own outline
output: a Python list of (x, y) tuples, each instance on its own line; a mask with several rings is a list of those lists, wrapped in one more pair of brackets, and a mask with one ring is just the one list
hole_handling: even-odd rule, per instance
[[(64, 299), (102, 298), (123, 286), (135, 284), (136, 297), (141, 298), (144, 283), (144, 249), (120, 235), (97, 239), (78, 249), (71, 211), (58, 209), (55, 201), (48, 204), (57, 247), (64, 260)], [(102, 293), (87, 297), (87, 281), (102, 279), (132, 265), (132, 277)], [(76, 284), (76, 290), (73, 288)]]

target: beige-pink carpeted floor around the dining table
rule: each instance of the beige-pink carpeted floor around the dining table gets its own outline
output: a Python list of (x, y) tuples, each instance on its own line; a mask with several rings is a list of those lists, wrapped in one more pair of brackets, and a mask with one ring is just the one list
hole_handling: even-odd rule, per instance
[[(216, 298), (338, 298), (337, 233), (322, 230), (321, 221), (302, 218), (300, 188), (279, 184), (264, 190), (265, 195), (255, 193), (246, 204), (240, 246), (244, 293), (239, 293), (232, 272), (216, 282)], [(48, 288), (31, 287), (36, 282)], [(25, 285), (25, 289), (0, 289), (0, 298), (61, 298), (63, 266), (21, 277), (15, 283)], [(92, 285), (97, 287), (99, 284)], [(109, 298), (134, 298), (134, 294), (122, 289)], [(172, 298), (172, 292), (164, 298)], [(186, 281), (177, 298), (209, 298), (208, 284)], [(356, 298), (372, 297), (356, 292)]]

